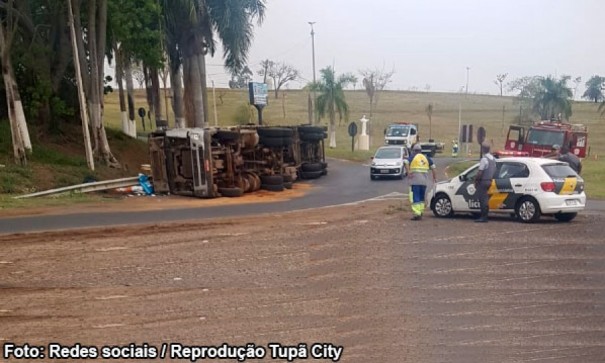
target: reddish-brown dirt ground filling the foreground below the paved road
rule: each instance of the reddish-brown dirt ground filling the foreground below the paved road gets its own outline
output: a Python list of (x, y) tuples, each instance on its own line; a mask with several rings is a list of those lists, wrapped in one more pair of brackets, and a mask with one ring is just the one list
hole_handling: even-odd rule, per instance
[(604, 356), (602, 215), (494, 218), (488, 234), (409, 217), (383, 200), (3, 235), (0, 342), (325, 342), (343, 362)]

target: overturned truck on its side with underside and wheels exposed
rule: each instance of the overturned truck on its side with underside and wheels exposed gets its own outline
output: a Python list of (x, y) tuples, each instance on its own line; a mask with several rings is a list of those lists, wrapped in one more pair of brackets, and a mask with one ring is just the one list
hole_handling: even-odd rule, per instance
[(327, 174), (326, 137), (310, 125), (158, 130), (149, 135), (154, 189), (201, 198), (282, 191)]

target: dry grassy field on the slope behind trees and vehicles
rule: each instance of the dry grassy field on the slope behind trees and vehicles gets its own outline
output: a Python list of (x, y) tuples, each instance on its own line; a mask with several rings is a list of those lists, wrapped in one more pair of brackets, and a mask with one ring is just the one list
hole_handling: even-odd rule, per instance
[[(345, 95), (350, 107), (350, 119), (357, 121), (365, 114), (370, 118), (368, 97), (364, 91), (346, 91)], [(164, 102), (162, 94), (162, 102)], [(212, 97), (212, 92), (210, 92)], [(222, 101), (221, 101), (222, 99)], [(270, 93), (269, 106), (263, 112), (263, 119), (268, 125), (294, 125), (307, 123), (308, 93), (301, 90), (289, 90), (280, 93), (280, 98), (273, 98)], [(144, 93), (137, 91), (136, 107), (146, 107)], [(462, 123), (472, 124), (476, 130), (483, 126), (487, 130), (487, 140), (494, 149), (502, 148), (508, 125), (515, 121), (519, 114), (519, 105), (513, 97), (487, 95), (464, 95), (453, 93), (385, 91), (380, 94), (378, 104), (369, 123), (371, 131), (371, 149), (383, 144), (383, 130), (387, 124), (394, 121), (409, 121), (418, 123), (422, 140), (429, 138), (429, 119), (425, 109), (433, 104), (431, 137), (446, 143), (446, 151), (451, 150), (451, 141), (458, 133), (458, 106), (462, 109)], [(209, 103), (209, 120), (214, 124), (212, 98)], [(598, 104), (590, 102), (574, 102), (571, 122), (583, 123), (589, 127), (590, 157), (584, 161), (583, 176), (587, 180), (587, 192), (591, 197), (605, 198), (605, 119), (597, 112)], [(216, 90), (216, 110), (219, 125), (233, 125), (238, 119), (248, 116), (251, 122), (257, 121), (254, 108), (248, 106), (246, 90)], [(248, 111), (246, 111), (248, 110)], [(119, 128), (119, 107), (117, 92), (106, 98), (105, 120), (110, 127)], [(174, 117), (169, 115), (170, 125), (174, 125)], [(328, 120), (321, 120), (327, 125)], [(337, 148), (329, 150), (331, 156), (353, 160), (367, 160), (370, 152), (351, 152), (351, 139), (347, 134), (348, 123), (344, 120), (337, 128)], [(360, 126), (360, 125), (359, 125)], [(141, 121), (137, 120), (137, 128), (141, 130)], [(477, 156), (477, 144), (470, 145), (473, 157)], [(466, 148), (463, 148), (466, 151)]]

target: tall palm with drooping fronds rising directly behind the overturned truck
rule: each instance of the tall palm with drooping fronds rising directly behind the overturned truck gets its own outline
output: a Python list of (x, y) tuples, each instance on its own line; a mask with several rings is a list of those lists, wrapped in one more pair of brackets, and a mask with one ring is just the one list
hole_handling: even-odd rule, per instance
[[(214, 56), (216, 36), (223, 46), (225, 67), (234, 72), (242, 69), (253, 38), (253, 21), (260, 24), (264, 19), (265, 0), (162, 0), (162, 8), (172, 73), (183, 68), (185, 118), (193, 126), (205, 126), (205, 56)], [(174, 91), (175, 96), (180, 93)]]

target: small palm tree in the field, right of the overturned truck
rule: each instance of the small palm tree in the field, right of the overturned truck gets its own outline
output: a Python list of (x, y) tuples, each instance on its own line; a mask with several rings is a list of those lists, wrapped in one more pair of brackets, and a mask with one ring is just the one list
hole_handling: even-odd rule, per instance
[(332, 67), (327, 67), (319, 71), (321, 80), (311, 84), (311, 90), (319, 92), (315, 100), (316, 112), (321, 119), (326, 114), (330, 119), (330, 147), (336, 147), (336, 113), (340, 119), (349, 118), (349, 105), (345, 100), (343, 89), (350, 83), (353, 83), (355, 76), (350, 73), (342, 74), (338, 78)]

